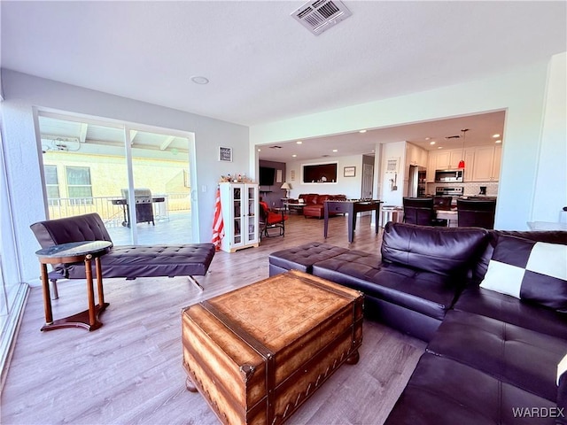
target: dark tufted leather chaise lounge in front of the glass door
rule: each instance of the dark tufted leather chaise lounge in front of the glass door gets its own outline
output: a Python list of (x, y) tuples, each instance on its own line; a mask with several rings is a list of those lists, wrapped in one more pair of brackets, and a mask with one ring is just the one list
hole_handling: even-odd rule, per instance
[[(70, 242), (111, 240), (97, 213), (39, 221), (30, 226), (42, 248)], [(175, 245), (113, 245), (102, 258), (103, 277), (188, 276), (200, 290), (194, 275), (205, 275), (214, 257), (213, 243)], [(57, 298), (58, 279), (84, 279), (84, 263), (59, 264), (50, 272), (52, 294)]]

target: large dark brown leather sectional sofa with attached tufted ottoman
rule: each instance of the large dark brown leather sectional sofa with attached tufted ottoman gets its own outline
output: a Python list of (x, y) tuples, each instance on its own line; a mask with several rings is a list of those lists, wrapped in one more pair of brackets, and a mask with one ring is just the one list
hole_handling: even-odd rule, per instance
[(516, 260), (526, 241), (565, 245), (567, 232), (391, 222), (381, 255), (309, 243), (272, 253), (269, 267), (361, 290), (367, 316), (428, 342), (388, 425), (565, 423), (567, 380), (558, 388), (556, 374), (567, 354), (567, 282), (522, 283), (520, 298), (479, 286), (496, 250)]

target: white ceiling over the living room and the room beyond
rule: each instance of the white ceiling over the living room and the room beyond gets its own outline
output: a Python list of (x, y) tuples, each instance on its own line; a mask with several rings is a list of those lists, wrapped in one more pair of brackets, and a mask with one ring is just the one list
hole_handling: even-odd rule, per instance
[[(316, 36), (290, 16), (303, 3), (4, 0), (1, 66), (253, 126), (475, 80), (567, 50), (563, 1), (346, 1), (352, 16)], [(195, 84), (193, 75), (210, 82)], [(420, 143), (466, 124), (469, 142), (486, 131), (479, 121), (452, 124), (362, 138)], [(317, 154), (354, 145), (354, 136), (325, 138)]]

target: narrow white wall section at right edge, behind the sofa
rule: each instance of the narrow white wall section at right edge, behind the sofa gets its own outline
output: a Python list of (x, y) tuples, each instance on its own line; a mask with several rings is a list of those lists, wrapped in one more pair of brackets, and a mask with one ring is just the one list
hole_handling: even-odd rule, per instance
[(532, 221), (567, 222), (567, 53), (549, 63)]

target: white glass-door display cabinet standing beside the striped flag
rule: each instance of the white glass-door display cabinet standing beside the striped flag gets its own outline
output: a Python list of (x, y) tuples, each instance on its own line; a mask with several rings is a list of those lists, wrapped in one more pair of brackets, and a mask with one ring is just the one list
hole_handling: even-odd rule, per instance
[(224, 237), (221, 250), (235, 252), (260, 243), (258, 184), (221, 182)]

